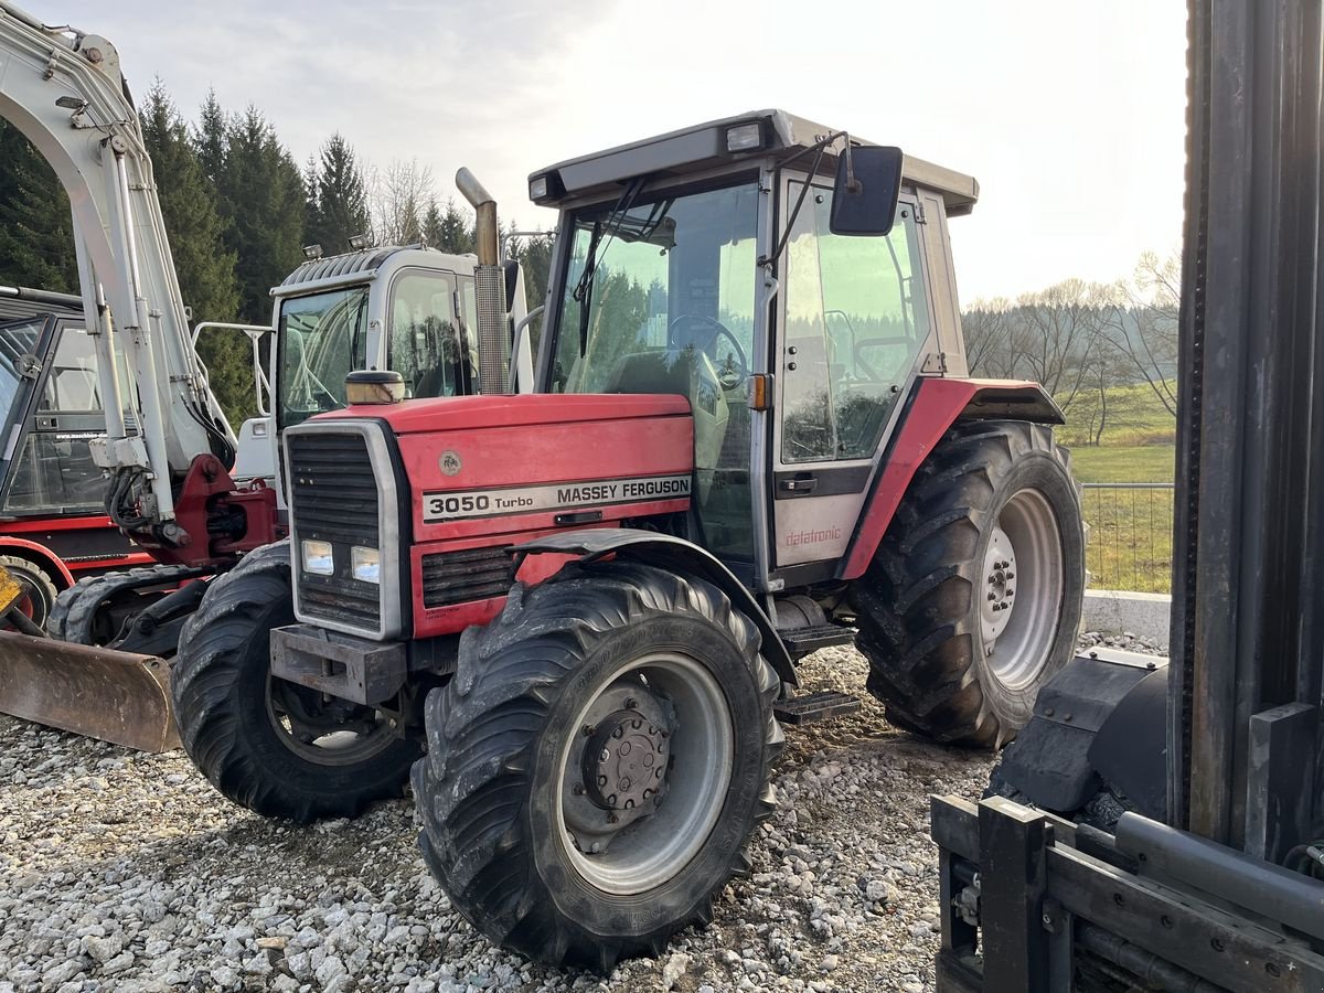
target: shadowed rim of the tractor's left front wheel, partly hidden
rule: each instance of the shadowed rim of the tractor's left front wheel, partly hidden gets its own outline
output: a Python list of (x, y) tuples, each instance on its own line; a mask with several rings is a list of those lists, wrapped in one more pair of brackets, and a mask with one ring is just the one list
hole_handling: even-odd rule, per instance
[(397, 740), (372, 707), (326, 698), (271, 675), (266, 678), (266, 716), (281, 744), (318, 765), (356, 765)]

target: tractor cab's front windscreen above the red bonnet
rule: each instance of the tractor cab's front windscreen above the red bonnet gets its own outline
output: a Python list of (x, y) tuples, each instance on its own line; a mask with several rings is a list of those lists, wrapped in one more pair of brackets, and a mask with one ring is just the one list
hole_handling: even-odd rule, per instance
[(657, 379), (683, 355), (704, 369), (711, 364), (723, 388), (739, 381), (743, 389), (753, 346), (757, 196), (751, 181), (579, 214), (552, 389), (645, 392), (649, 384), (637, 379)]

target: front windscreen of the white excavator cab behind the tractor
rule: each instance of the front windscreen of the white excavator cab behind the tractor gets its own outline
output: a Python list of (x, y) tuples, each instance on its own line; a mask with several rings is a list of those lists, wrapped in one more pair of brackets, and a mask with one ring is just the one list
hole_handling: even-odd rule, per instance
[(368, 364), (368, 287), (351, 286), (281, 303), (277, 334), (281, 428), (344, 406), (344, 377)]

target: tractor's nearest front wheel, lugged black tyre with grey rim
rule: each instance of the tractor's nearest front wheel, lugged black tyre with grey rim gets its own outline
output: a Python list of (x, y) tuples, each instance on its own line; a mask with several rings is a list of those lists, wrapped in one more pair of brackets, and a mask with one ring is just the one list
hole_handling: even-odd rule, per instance
[(708, 583), (568, 567), (469, 629), (428, 698), (420, 846), (498, 944), (606, 970), (712, 916), (773, 810), (777, 675)]

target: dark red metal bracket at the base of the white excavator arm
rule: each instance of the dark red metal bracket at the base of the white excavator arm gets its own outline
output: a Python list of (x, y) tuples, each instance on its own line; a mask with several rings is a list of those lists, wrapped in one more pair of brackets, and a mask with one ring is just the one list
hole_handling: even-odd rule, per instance
[[(211, 538), (208, 520), (234, 506), (244, 510), (246, 526), (242, 536), (234, 542)], [(285, 538), (287, 532), (277, 523), (275, 514), (275, 490), (261, 479), (240, 489), (218, 458), (196, 455), (175, 500), (175, 522), (184, 530), (188, 540), (181, 547), (173, 547), (152, 534), (136, 532), (134, 540), (154, 549), (155, 559), (167, 565), (222, 568), (233, 564), (242, 552), (252, 552)]]

